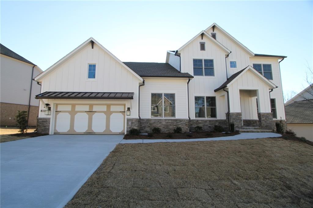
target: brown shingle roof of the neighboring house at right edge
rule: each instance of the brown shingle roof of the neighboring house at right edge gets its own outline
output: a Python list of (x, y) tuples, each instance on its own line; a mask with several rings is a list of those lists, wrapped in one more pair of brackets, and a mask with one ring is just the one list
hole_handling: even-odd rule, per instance
[(313, 100), (296, 101), (285, 106), (287, 123), (313, 123)]

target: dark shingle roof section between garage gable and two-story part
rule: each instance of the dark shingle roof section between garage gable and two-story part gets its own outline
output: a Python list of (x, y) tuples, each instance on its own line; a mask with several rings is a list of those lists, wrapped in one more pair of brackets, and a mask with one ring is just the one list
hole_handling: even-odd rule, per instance
[(188, 73), (181, 73), (169, 63), (123, 62), (140, 77), (190, 77)]

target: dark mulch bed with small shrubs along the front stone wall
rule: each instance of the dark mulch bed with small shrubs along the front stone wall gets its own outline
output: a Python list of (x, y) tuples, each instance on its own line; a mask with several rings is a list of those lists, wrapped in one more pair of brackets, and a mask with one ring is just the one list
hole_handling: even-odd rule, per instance
[(228, 132), (228, 133), (221, 133), (221, 132), (192, 132), (192, 133), (159, 133), (153, 134), (152, 137), (148, 135), (129, 135), (126, 134), (124, 139), (200, 139), (200, 138), (212, 138), (212, 137), (221, 137), (221, 136), (234, 136), (239, 134), (238, 132)]

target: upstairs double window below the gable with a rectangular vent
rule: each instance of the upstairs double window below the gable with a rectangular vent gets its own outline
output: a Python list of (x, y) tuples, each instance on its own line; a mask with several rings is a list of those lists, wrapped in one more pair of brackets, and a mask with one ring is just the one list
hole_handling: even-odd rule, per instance
[(213, 59), (193, 59), (194, 76), (214, 76)]

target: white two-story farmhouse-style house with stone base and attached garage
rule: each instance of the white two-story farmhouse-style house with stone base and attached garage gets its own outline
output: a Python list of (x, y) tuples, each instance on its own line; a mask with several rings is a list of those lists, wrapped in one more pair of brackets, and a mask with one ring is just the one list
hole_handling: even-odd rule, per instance
[(125, 134), (195, 126), (272, 131), (285, 122), (280, 65), (251, 52), (216, 23), (165, 63), (121, 62), (94, 38), (38, 75), (38, 131)]

